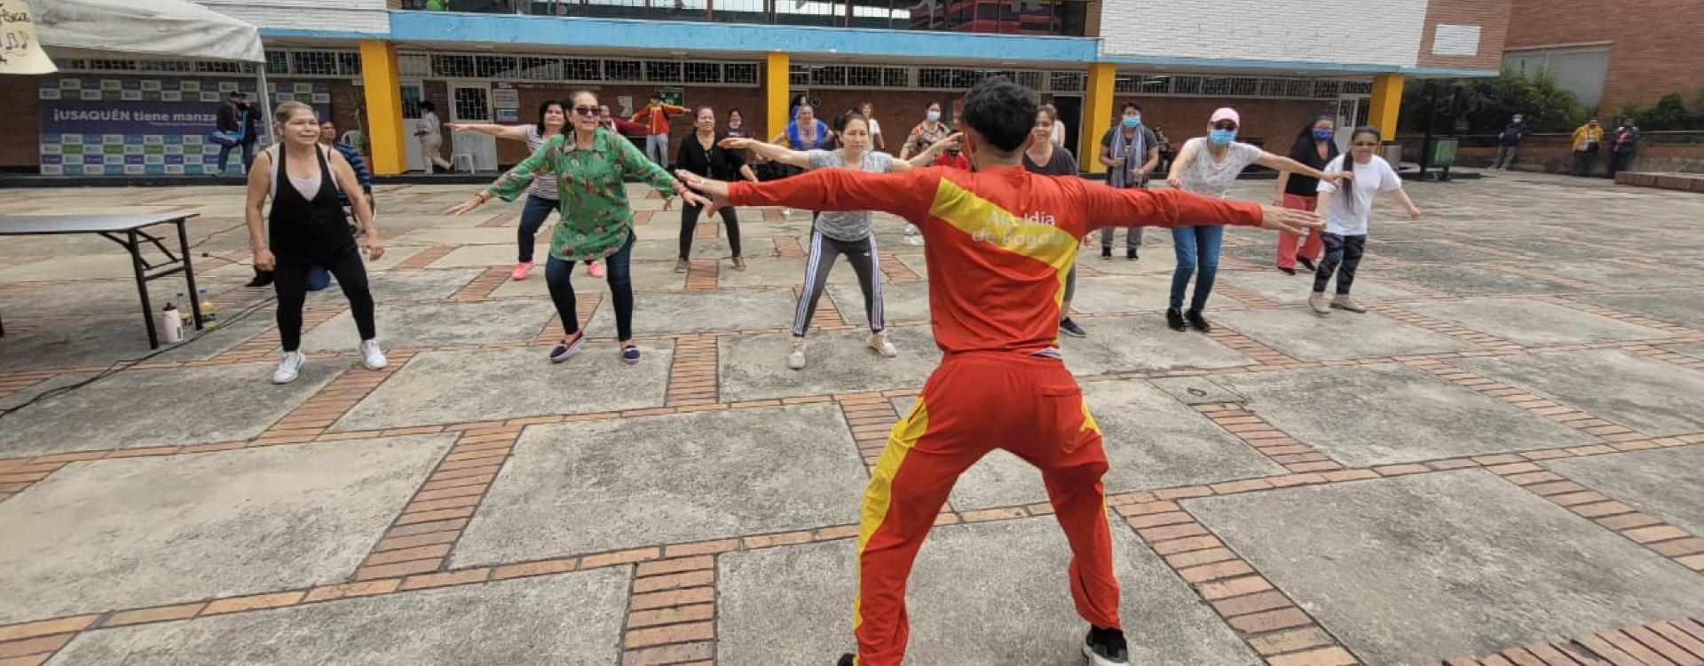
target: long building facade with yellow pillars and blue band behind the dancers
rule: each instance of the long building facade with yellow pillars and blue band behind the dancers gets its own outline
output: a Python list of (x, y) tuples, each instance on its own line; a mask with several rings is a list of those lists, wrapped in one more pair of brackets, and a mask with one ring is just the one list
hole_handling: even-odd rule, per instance
[[(1494, 75), (1508, 31), (1508, 0), (1368, 0), (1331, 20), (1305, 0), (1212, 9), (1177, 0), (199, 2), (261, 26), (271, 92), (305, 95), (346, 129), (365, 131), (378, 174), (423, 164), (412, 140), (421, 100), (433, 100), (445, 121), (525, 123), (542, 100), (578, 89), (596, 92), (617, 114), (665, 90), (687, 106), (712, 106), (719, 118), (740, 109), (748, 124), (774, 135), (789, 119), (789, 99), (803, 92), (821, 100), (823, 116), (872, 102), (896, 152), (925, 106), (941, 102), (953, 116), (953, 102), (992, 73), (1060, 107), (1087, 170), (1102, 170), (1094, 160), (1099, 136), (1126, 100), (1174, 141), (1205, 133), (1218, 106), (1242, 112), (1242, 138), (1276, 150), (1319, 112), (1394, 136), (1406, 78)], [(184, 90), (201, 100), (254, 87), (254, 66), (244, 65), (60, 65), (61, 73), (39, 80), (0, 78), (0, 100), (48, 118), (37, 135), (0, 138), (0, 167), (199, 172), (194, 158), (165, 160), (199, 143), (187, 128), (162, 129), (165, 136), (123, 126), (78, 133), (51, 118), (63, 116), (66, 95), (123, 111), (164, 106), (162, 97), (187, 104)], [(690, 119), (675, 119), (675, 141), (688, 133)], [(77, 160), (65, 158), (65, 146), (90, 143), (106, 143), (107, 157), (82, 153), (89, 169), (70, 169)], [(481, 169), (523, 157), (520, 145), (489, 136), (445, 143), (445, 157)], [(130, 157), (136, 153), (140, 160)]]

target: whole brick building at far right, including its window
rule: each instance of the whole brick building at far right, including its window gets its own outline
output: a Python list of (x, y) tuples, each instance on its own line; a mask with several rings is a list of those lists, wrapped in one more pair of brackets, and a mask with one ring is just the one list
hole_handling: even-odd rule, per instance
[(1586, 109), (1614, 114), (1704, 94), (1704, 2), (1515, 0), (1503, 60), (1549, 68)]

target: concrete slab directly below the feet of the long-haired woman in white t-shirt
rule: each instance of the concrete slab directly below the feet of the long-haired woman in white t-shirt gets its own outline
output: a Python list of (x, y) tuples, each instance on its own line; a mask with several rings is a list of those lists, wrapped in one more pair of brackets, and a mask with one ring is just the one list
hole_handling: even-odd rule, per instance
[(1472, 342), (1402, 324), (1377, 312), (1336, 310), (1321, 317), (1298, 307), (1230, 310), (1212, 319), (1302, 361), (1479, 349)]

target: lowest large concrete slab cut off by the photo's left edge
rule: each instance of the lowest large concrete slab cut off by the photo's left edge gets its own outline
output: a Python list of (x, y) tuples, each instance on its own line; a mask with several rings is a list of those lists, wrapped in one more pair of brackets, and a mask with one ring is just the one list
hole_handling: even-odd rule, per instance
[(66, 465), (0, 504), (0, 622), (341, 583), (453, 439)]

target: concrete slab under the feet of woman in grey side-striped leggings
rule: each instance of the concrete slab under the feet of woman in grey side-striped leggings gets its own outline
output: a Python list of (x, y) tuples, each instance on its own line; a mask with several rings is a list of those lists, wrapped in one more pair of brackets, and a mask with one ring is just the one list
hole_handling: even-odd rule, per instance
[(787, 370), (792, 334), (722, 337), (717, 353), (722, 400), (922, 387), (941, 365), (934, 334), (929, 327), (898, 327), (886, 334), (900, 356), (881, 358), (864, 346), (869, 330), (813, 332), (806, 337), (809, 365), (804, 370)]

